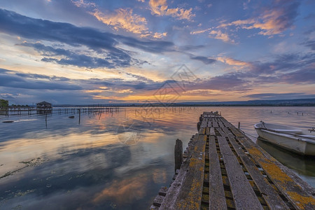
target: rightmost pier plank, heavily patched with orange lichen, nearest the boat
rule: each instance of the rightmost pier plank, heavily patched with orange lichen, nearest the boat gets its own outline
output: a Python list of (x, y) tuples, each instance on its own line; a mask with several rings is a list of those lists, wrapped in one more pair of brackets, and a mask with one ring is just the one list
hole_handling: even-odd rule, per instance
[(237, 137), (251, 157), (258, 162), (269, 179), (297, 209), (315, 209), (315, 190), (290, 169), (255, 145), (248, 137)]

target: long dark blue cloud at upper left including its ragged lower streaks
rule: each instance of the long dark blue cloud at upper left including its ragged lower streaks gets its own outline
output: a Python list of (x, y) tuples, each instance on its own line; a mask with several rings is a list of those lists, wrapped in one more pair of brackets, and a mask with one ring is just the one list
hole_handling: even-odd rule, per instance
[[(18, 13), (0, 9), (0, 32), (13, 36), (28, 38), (33, 41), (57, 42), (77, 48), (86, 46), (96, 54), (106, 57), (90, 57), (77, 52), (71, 52), (62, 48), (52, 48), (43, 45), (32, 45), (38, 51), (49, 55), (64, 55), (61, 59), (46, 57), (45, 62), (57, 62), (60, 64), (76, 64), (87, 67), (129, 66), (130, 52), (118, 48), (118, 45), (128, 45), (146, 52), (162, 53), (174, 51), (174, 43), (169, 41), (139, 41), (137, 38), (111, 34), (88, 27), (76, 27), (63, 22), (52, 22), (28, 18)], [(155, 36), (158, 36), (156, 34)], [(43, 55), (45, 55), (43, 53)]]

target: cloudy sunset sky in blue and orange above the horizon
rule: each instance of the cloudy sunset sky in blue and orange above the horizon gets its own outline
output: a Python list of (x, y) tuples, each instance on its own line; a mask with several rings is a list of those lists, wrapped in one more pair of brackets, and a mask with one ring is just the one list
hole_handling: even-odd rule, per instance
[(314, 8), (314, 0), (0, 0), (0, 99), (315, 98)]

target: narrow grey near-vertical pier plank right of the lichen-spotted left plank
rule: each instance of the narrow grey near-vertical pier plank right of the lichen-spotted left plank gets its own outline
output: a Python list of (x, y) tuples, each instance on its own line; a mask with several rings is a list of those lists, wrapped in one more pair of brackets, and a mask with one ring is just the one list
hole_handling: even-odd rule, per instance
[(214, 136), (209, 138), (209, 162), (209, 209), (228, 209)]

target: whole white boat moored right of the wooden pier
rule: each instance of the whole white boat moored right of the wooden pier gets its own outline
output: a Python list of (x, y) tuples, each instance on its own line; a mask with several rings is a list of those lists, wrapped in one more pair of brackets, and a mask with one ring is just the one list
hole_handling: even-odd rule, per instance
[(262, 140), (269, 141), (301, 155), (315, 155), (315, 130), (304, 132), (297, 127), (275, 125), (260, 121), (254, 125)]

